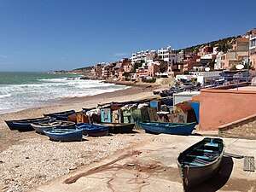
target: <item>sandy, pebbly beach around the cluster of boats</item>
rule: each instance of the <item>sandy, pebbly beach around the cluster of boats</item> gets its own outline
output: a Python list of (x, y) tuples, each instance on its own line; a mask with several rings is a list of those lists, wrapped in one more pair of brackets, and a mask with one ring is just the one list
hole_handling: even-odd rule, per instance
[(147, 140), (151, 135), (136, 131), (108, 137), (84, 137), (83, 142), (58, 143), (36, 132), (9, 131), (4, 120), (41, 117), (44, 113), (95, 108), (97, 103), (124, 102), (155, 97), (153, 87), (132, 86), (96, 96), (66, 98), (57, 105), (31, 108), (0, 115), (0, 189), (26, 191), (80, 166), (102, 160), (108, 155)]

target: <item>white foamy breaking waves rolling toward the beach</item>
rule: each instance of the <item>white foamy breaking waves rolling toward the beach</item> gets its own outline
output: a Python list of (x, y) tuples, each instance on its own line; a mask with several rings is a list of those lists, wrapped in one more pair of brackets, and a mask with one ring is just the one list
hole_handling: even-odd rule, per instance
[(32, 84), (0, 84), (0, 113), (34, 108), (65, 97), (94, 96), (126, 88), (124, 85), (79, 78), (39, 79)]

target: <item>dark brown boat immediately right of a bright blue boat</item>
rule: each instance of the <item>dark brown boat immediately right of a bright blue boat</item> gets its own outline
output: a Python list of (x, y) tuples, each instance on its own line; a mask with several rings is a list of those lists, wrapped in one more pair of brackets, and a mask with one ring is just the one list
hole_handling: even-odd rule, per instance
[(132, 129), (135, 124), (129, 123), (102, 123), (103, 126), (108, 126), (108, 132), (111, 133), (129, 133), (132, 132)]

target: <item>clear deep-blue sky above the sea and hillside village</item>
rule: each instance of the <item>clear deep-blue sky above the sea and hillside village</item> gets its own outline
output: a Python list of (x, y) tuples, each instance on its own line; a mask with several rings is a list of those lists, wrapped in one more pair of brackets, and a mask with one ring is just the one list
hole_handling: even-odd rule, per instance
[(255, 0), (1, 0), (0, 71), (49, 71), (182, 49), (256, 27)]

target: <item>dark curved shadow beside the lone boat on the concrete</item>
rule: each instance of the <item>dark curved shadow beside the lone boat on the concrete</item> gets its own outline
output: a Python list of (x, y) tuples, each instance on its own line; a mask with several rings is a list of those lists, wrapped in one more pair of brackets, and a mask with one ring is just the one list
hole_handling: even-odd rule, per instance
[(201, 183), (195, 188), (189, 189), (189, 192), (218, 191), (218, 189), (221, 189), (228, 182), (233, 170), (233, 165), (234, 162), (231, 157), (223, 157), (218, 172), (205, 183)]

